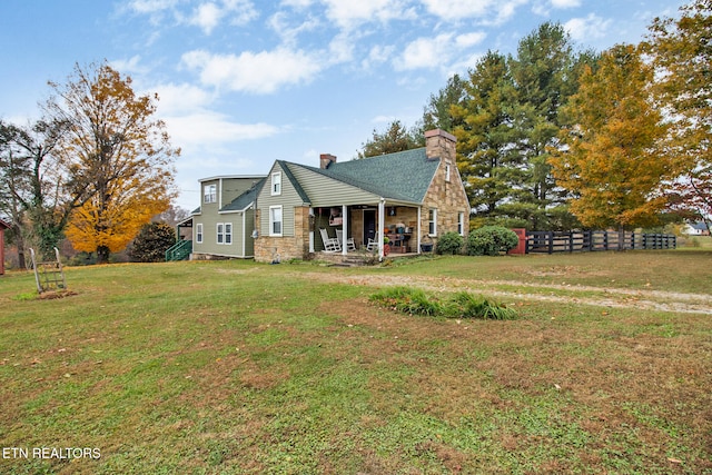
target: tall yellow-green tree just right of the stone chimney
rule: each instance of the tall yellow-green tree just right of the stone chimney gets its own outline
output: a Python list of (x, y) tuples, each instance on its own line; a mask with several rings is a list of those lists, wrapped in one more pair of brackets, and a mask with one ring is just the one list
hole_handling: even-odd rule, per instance
[(502, 217), (501, 205), (522, 188), (522, 156), (513, 147), (514, 82), (504, 56), (488, 51), (468, 73), (465, 97), (452, 106), (457, 165), (475, 214)]

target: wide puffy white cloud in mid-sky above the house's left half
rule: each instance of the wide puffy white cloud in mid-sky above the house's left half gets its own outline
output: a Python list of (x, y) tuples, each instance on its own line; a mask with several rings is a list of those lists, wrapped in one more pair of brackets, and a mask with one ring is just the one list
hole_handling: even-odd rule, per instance
[(181, 59), (189, 69), (200, 72), (204, 85), (254, 93), (271, 93), (283, 86), (309, 82), (325, 67), (319, 55), (284, 47), (239, 56), (194, 50)]

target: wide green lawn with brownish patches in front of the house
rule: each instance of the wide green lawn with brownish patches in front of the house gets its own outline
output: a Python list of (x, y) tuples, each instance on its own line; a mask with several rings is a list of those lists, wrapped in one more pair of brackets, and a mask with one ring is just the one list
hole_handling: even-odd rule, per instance
[[(611, 288), (710, 295), (711, 260), (112, 265), (67, 269), (77, 295), (48, 300), (10, 273), (0, 447), (101, 457), (0, 458), (0, 473), (712, 473), (710, 315), (574, 301)], [(443, 299), (465, 285), (505, 291), (518, 318), (369, 301), (414, 279)], [(536, 298), (552, 294), (563, 298)]]

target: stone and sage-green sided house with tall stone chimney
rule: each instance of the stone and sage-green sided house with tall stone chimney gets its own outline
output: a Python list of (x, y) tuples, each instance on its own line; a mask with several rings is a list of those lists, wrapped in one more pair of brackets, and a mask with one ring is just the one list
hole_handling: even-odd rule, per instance
[[(200, 180), (204, 201), (191, 216), (192, 258), (304, 259), (326, 251), (323, 234), (328, 240), (337, 231), (356, 249), (370, 244), (383, 257), (384, 236), (394, 251), (421, 253), (422, 244), (433, 245), (444, 232), (466, 235), (469, 201), (457, 170), (456, 139), (439, 129), (425, 132), (425, 139), (424, 148), (360, 160), (337, 162), (324, 154), (319, 167), (277, 160), (249, 188), (231, 181), (240, 178)], [(254, 241), (246, 243), (246, 236)], [(245, 251), (227, 253), (238, 239)], [(348, 251), (342, 246), (328, 254)]]

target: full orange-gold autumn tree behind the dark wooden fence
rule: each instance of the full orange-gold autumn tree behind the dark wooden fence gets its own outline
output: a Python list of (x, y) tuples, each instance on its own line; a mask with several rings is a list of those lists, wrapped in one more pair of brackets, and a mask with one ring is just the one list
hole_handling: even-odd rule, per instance
[(664, 208), (659, 191), (672, 167), (659, 154), (666, 127), (651, 99), (652, 79), (635, 47), (613, 47), (595, 71), (585, 68), (563, 109), (573, 123), (560, 136), (568, 149), (555, 149), (548, 164), (557, 182), (575, 190), (571, 210), (586, 227), (650, 226)]

